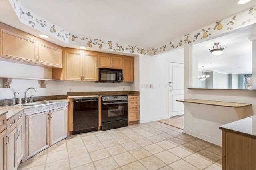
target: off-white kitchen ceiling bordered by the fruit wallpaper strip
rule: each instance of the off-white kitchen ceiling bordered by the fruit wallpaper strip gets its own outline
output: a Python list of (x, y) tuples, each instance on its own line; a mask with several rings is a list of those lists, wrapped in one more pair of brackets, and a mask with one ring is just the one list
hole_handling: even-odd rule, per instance
[[(0, 1), (0, 21), (36, 34), (33, 29), (19, 23), (7, 2), (8, 0)], [(256, 6), (256, 0), (243, 5), (238, 5), (237, 0), (20, 0), (20, 2), (25, 8), (71, 34), (145, 48), (157, 47)]]

